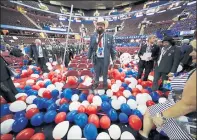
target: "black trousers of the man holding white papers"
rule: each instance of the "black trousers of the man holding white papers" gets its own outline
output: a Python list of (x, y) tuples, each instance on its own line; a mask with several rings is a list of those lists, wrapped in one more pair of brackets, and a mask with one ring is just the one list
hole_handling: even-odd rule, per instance
[(144, 74), (143, 81), (147, 81), (148, 80), (148, 75), (152, 71), (153, 66), (154, 66), (154, 61), (140, 60), (140, 62), (138, 64), (138, 77), (137, 77), (137, 79), (141, 79), (142, 73), (145, 69), (145, 74)]

